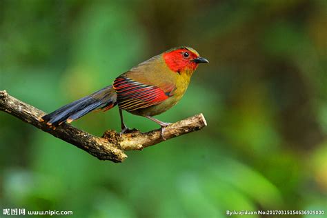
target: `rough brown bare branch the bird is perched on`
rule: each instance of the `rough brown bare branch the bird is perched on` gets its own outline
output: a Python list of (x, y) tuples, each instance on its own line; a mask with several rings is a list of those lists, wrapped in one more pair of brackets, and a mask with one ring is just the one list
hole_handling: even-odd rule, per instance
[[(121, 136), (115, 130), (106, 130), (102, 137), (91, 135), (67, 123), (63, 123), (53, 130), (46, 123), (39, 121), (40, 117), (46, 114), (45, 112), (8, 95), (5, 90), (0, 90), (0, 110), (50, 133), (54, 137), (67, 141), (98, 159), (110, 160), (115, 163), (122, 162), (127, 158), (125, 150), (142, 150), (164, 140), (161, 137), (160, 129), (150, 132), (132, 130)], [(164, 137), (171, 139), (188, 132), (201, 130), (204, 126), (206, 126), (204, 115), (195, 115), (167, 126)]]

